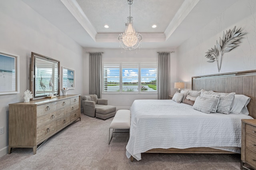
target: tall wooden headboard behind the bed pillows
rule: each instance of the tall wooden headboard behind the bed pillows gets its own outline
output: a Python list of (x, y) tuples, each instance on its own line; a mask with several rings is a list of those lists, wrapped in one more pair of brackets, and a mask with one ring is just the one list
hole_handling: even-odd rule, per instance
[(201, 89), (250, 97), (248, 111), (256, 119), (256, 70), (192, 77), (192, 90)]

